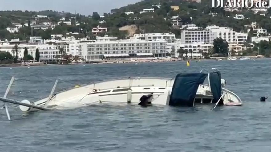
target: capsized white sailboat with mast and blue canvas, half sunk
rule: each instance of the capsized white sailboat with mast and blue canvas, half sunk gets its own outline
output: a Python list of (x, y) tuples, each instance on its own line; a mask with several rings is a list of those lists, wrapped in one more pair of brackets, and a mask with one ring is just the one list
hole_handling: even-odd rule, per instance
[[(180, 73), (175, 78), (124, 78), (106, 80), (93, 84), (78, 85), (74, 88), (51, 94), (44, 99), (18, 102), (0, 97), (4, 103), (20, 105), (22, 111), (32, 109), (72, 109), (101, 103), (189, 106), (215, 104), (241, 106), (241, 99), (223, 88), (226, 84), (217, 69), (212, 72)], [(14, 77), (13, 77), (14, 80)], [(7, 89), (7, 92), (13, 82)], [(206, 82), (206, 83), (204, 83)], [(214, 108), (215, 108), (214, 107)], [(6, 108), (7, 109), (7, 108)], [(8, 111), (7, 111), (8, 113)]]

